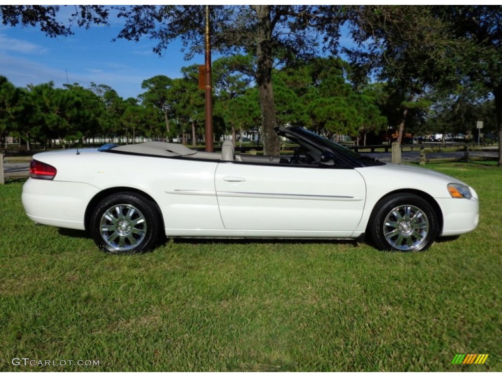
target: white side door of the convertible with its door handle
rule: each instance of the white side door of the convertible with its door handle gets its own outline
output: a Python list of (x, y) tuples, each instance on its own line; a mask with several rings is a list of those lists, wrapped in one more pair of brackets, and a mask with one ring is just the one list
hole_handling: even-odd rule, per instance
[(218, 206), (225, 229), (246, 236), (349, 237), (366, 195), (352, 168), (218, 163)]

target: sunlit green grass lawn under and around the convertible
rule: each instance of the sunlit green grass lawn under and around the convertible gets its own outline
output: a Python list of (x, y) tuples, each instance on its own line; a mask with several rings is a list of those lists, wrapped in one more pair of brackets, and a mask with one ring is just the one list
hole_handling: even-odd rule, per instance
[(0, 186), (0, 371), (502, 371), (502, 171), (427, 166), (472, 185), (481, 220), (423, 253), (188, 240), (106, 255), (32, 223), (22, 182)]

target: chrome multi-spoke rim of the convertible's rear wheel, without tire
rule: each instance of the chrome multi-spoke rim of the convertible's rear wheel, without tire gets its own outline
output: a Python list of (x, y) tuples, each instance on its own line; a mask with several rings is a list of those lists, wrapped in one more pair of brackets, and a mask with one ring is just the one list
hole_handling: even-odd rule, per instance
[(108, 208), (99, 224), (101, 237), (113, 249), (127, 251), (137, 247), (147, 233), (145, 216), (131, 204)]

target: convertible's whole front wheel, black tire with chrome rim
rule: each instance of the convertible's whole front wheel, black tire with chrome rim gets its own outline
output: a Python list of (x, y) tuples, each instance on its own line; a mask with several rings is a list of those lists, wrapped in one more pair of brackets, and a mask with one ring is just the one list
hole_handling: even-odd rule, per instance
[(414, 194), (396, 194), (376, 204), (368, 223), (370, 242), (380, 250), (425, 251), (439, 234), (432, 206)]

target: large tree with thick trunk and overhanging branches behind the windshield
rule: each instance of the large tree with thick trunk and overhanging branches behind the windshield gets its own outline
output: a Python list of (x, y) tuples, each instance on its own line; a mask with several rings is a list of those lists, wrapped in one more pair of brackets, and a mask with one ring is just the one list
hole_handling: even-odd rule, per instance
[[(139, 40), (144, 35), (159, 40), (154, 51), (161, 53), (175, 38), (189, 47), (189, 56), (203, 49), (202, 6), (133, 6), (120, 8), (126, 24), (119, 38)], [(222, 52), (245, 52), (256, 56), (256, 79), (260, 93), (264, 153), (279, 154), (275, 135), (276, 112), (272, 69), (276, 60), (312, 56), (319, 38), (313, 31), (328, 31), (325, 41), (336, 46), (341, 21), (337, 7), (314, 6), (213, 6), (212, 35)]]

